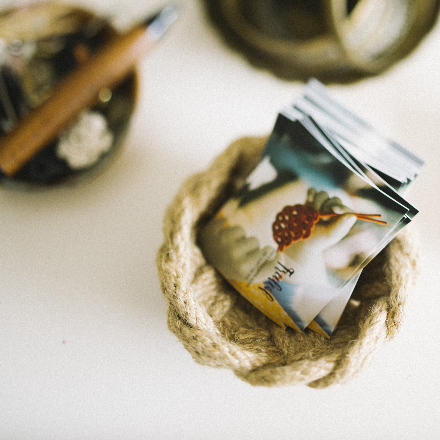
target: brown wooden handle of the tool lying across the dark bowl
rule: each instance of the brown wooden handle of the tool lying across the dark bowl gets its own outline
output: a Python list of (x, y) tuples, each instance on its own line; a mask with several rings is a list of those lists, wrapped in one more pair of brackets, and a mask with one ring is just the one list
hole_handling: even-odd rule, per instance
[(12, 176), (81, 110), (93, 106), (102, 88), (119, 84), (153, 43), (147, 28), (140, 26), (116, 37), (74, 70), (43, 104), (0, 139), (0, 169), (4, 174)]

